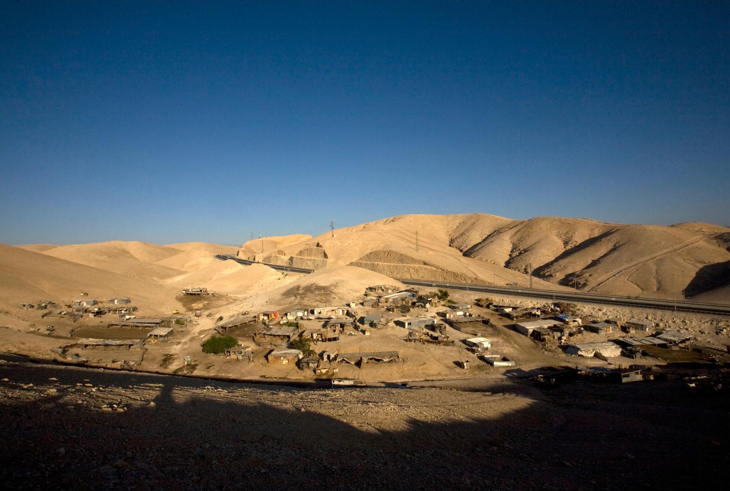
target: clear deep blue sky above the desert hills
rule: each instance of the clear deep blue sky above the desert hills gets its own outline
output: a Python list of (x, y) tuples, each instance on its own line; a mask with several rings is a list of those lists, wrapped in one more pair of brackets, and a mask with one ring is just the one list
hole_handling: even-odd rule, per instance
[(6, 1), (0, 241), (730, 225), (730, 2)]

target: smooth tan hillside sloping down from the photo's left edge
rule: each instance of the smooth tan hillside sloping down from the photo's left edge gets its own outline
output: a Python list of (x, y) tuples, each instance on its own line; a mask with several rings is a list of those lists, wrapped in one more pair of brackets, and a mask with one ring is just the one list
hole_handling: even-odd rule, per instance
[(134, 305), (150, 312), (168, 312), (177, 308), (177, 289), (132, 279), (123, 274), (73, 263), (69, 260), (0, 244), (0, 304), (15, 308), (20, 302), (53, 300), (66, 304), (79, 298), (108, 299), (128, 296)]

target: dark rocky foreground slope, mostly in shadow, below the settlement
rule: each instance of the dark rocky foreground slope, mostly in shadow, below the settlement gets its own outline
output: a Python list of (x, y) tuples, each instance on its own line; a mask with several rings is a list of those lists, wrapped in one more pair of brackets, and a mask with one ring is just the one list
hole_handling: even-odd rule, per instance
[(721, 486), (727, 390), (507, 379), (296, 389), (0, 362), (13, 489), (634, 490)]

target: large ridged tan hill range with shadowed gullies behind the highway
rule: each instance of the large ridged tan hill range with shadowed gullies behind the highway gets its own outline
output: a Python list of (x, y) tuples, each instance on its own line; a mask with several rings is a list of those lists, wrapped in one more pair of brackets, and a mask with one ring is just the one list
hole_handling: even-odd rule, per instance
[[(418, 249), (416, 248), (418, 231)], [(352, 265), (391, 277), (517, 282), (616, 295), (724, 298), (730, 228), (708, 223), (626, 225), (563, 217), (510, 220), (490, 214), (408, 214), (238, 254), (301, 268)], [(319, 247), (317, 247), (319, 246)], [(718, 290), (712, 293), (712, 290)], [(700, 298), (700, 297), (698, 297)]]

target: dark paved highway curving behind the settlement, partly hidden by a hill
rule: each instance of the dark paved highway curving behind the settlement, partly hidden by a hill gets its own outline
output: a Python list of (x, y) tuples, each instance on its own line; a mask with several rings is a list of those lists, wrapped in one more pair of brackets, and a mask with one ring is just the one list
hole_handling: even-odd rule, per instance
[[(236, 255), (216, 255), (220, 260), (234, 260), (241, 264), (255, 264), (237, 257)], [(280, 271), (292, 271), (294, 273), (312, 273), (313, 269), (292, 268), (291, 266), (280, 266), (279, 264), (261, 263), (269, 268)], [(423, 287), (453, 288), (455, 290), (468, 290), (485, 293), (501, 293), (502, 295), (516, 295), (520, 297), (545, 298), (547, 300), (560, 300), (570, 302), (584, 302), (589, 304), (621, 305), (631, 307), (642, 307), (645, 309), (676, 310), (681, 312), (699, 312), (702, 314), (730, 316), (730, 306), (723, 304), (698, 304), (687, 301), (664, 300), (663, 298), (633, 298), (618, 295), (602, 295), (599, 293), (566, 292), (561, 290), (539, 290), (537, 288), (512, 288), (498, 287), (494, 285), (468, 285), (466, 283), (445, 283), (432, 282), (423, 279), (393, 278), (405, 285)]]

